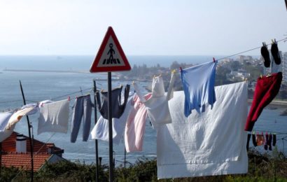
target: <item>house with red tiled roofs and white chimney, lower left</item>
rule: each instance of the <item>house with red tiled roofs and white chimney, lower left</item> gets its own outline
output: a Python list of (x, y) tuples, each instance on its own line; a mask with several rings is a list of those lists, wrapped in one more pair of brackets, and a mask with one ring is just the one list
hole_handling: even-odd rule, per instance
[[(54, 144), (45, 144), (36, 139), (34, 144), (34, 171), (38, 171), (48, 163), (54, 163), (61, 160), (64, 150), (57, 148)], [(29, 137), (13, 132), (10, 137), (1, 142), (0, 163), (5, 167), (20, 167), (31, 169), (31, 151)]]

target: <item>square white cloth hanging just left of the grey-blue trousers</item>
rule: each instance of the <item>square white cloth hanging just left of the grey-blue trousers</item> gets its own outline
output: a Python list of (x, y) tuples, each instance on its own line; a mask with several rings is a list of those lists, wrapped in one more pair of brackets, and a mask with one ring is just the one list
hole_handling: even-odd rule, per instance
[(43, 132), (68, 131), (69, 123), (69, 100), (51, 102), (40, 107), (38, 118), (38, 134)]

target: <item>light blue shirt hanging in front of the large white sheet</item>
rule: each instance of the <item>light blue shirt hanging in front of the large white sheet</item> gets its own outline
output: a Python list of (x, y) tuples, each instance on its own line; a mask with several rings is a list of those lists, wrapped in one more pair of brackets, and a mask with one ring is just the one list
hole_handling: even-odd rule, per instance
[(204, 112), (205, 105), (211, 108), (216, 102), (214, 91), (216, 63), (207, 62), (181, 71), (181, 81), (185, 94), (184, 115), (188, 117), (193, 109)]

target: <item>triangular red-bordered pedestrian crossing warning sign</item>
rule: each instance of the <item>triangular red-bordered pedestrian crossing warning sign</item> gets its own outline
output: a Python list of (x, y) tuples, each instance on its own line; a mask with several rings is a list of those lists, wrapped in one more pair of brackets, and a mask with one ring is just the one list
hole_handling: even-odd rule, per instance
[(128, 71), (130, 64), (112, 27), (108, 28), (90, 72)]

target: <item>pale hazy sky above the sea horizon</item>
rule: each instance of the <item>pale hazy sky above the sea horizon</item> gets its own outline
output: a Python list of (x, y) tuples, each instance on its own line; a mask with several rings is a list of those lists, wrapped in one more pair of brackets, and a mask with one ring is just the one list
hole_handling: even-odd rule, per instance
[(109, 26), (126, 55), (232, 55), (287, 38), (287, 10), (284, 0), (0, 0), (0, 55), (96, 55)]

